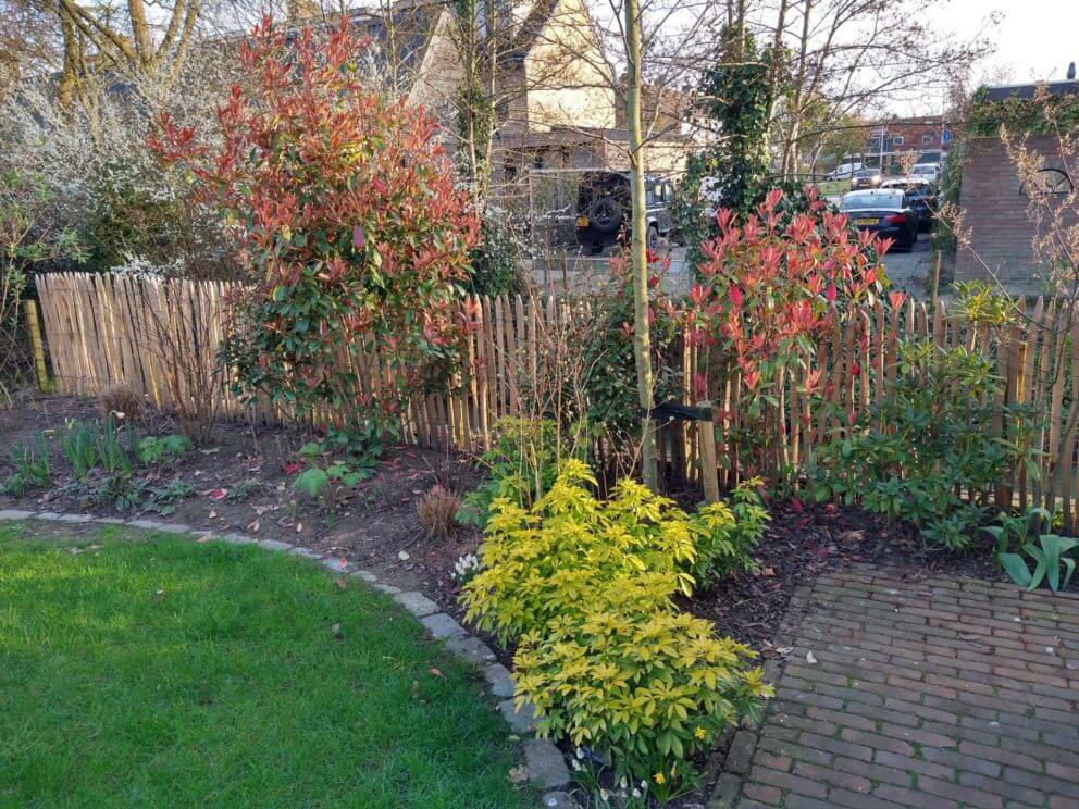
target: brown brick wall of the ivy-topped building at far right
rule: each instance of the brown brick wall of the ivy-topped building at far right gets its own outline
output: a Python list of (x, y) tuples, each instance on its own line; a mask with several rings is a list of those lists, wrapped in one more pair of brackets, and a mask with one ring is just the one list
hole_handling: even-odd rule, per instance
[[(1054, 165), (1055, 139), (1032, 137), (1028, 146), (1046, 155), (1046, 165)], [(1004, 145), (996, 138), (968, 141), (959, 207), (964, 227), (971, 231), (971, 249), (958, 250), (956, 281), (992, 281), (972, 250), (1014, 291), (1043, 291), (1045, 267), (1034, 261), (1031, 249), (1034, 226), (1027, 219), (1028, 202)]]

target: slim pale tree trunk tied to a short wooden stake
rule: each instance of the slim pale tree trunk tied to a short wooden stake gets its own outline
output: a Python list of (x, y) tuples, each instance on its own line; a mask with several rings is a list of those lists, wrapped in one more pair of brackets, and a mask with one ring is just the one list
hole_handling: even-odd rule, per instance
[(648, 332), (647, 221), (644, 190), (644, 134), (641, 127), (641, 11), (638, 0), (625, 0), (625, 121), (630, 139), (630, 200), (633, 238), (633, 352), (641, 404), (641, 476), (653, 491), (659, 489), (656, 468), (656, 424), (652, 419), (652, 338)]

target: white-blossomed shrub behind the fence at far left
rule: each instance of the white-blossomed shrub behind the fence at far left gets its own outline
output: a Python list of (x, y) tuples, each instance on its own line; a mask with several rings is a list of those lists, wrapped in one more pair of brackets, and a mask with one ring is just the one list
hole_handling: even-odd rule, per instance
[(58, 229), (77, 233), (84, 269), (132, 262), (190, 277), (228, 277), (224, 234), (190, 201), (187, 177), (164, 169), (147, 148), (157, 114), (198, 122), (209, 142), (216, 107), (236, 74), (235, 48), (203, 48), (175, 83), (110, 76), (63, 108), (53, 84), (24, 83), (0, 107), (0, 170), (39, 177)]

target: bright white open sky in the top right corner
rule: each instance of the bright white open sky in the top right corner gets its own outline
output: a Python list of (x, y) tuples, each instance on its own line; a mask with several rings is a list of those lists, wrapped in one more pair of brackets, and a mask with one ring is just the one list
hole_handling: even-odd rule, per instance
[[(1000, 25), (987, 28), (990, 14)], [(995, 52), (975, 76), (1008, 65), (1012, 80), (1064, 78), (1068, 62), (1079, 62), (1079, 0), (950, 0), (929, 11), (932, 23), (960, 36), (985, 30)]]

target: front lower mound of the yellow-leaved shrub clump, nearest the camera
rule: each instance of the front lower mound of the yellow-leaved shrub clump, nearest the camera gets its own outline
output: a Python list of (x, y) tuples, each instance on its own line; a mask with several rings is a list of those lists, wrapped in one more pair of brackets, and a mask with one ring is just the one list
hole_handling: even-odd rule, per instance
[(756, 654), (710, 622), (635, 609), (613, 588), (598, 600), (522, 638), (516, 700), (535, 706), (538, 733), (595, 748), (618, 776), (671, 777), (672, 762), (753, 713), (771, 686), (747, 664)]

